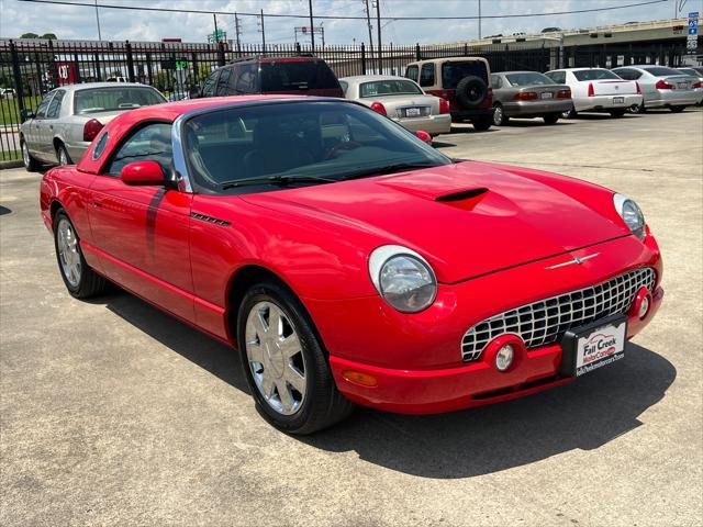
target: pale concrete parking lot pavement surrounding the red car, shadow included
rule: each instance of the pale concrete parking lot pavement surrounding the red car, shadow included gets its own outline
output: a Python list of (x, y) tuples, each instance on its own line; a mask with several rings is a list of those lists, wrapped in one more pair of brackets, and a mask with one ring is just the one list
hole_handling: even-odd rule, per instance
[(626, 359), (435, 416), (359, 408), (312, 437), (257, 414), (234, 352), (122, 292), (65, 291), (41, 175), (0, 171), (0, 524), (700, 525), (703, 112), (457, 126), (454, 157), (641, 206), (665, 302)]

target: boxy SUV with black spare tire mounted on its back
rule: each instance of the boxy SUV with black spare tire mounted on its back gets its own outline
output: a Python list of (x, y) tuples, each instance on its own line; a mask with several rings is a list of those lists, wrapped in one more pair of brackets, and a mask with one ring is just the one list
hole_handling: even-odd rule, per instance
[(449, 101), (454, 122), (470, 121), (477, 131), (493, 122), (491, 69), (481, 57), (449, 57), (410, 63), (405, 77), (433, 96)]

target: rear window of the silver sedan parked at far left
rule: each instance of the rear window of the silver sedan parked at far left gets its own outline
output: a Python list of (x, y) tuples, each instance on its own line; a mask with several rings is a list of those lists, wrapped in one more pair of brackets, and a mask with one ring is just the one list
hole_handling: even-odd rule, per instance
[(158, 91), (148, 87), (90, 88), (76, 91), (74, 97), (75, 112), (80, 114), (130, 110), (166, 102)]

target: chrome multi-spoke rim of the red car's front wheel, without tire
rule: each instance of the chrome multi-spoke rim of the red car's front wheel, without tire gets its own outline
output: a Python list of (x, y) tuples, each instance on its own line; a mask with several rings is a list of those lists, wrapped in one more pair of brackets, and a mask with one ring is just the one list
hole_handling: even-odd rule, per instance
[(272, 302), (258, 302), (247, 316), (245, 346), (264, 401), (281, 415), (298, 412), (305, 400), (306, 367), (290, 317)]

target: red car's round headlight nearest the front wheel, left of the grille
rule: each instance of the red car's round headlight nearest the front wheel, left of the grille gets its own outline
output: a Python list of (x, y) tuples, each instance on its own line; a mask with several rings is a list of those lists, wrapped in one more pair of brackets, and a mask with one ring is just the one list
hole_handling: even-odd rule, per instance
[(379, 294), (401, 313), (417, 313), (435, 301), (437, 279), (429, 264), (399, 245), (379, 247), (369, 258), (369, 274)]

